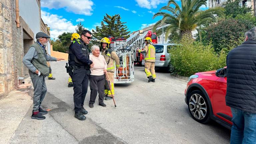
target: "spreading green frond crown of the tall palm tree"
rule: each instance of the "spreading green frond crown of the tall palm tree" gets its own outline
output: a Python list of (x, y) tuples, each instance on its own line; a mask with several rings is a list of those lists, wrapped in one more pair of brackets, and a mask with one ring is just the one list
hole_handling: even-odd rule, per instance
[[(163, 16), (153, 27), (153, 31), (162, 24), (168, 24), (164, 27), (166, 32), (165, 39), (171, 33), (178, 32), (181, 36), (187, 34), (192, 37), (191, 31), (197, 30), (201, 40), (200, 30), (203, 25), (217, 21), (216, 15), (224, 17), (224, 8), (214, 7), (206, 10), (201, 10), (200, 7), (206, 6), (207, 0), (181, 0), (181, 7), (175, 0), (169, 0), (168, 4), (162, 7), (158, 13), (153, 16), (153, 19), (157, 16)], [(174, 7), (172, 7), (174, 5)], [(162, 11), (165, 10), (165, 11)], [(157, 31), (161, 34), (162, 31)]]

